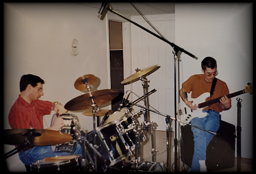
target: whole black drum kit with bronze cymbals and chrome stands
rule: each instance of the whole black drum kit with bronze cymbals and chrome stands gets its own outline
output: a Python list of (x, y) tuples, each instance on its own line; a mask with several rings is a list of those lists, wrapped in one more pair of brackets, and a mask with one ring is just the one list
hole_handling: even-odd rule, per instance
[[(144, 99), (144, 109), (136, 113), (131, 105), (125, 105), (127, 101), (125, 99), (126, 93), (118, 110), (114, 113), (112, 110), (99, 109), (98, 106), (117, 97), (118, 90), (103, 89), (92, 92), (91, 89), (96, 84), (97, 78), (93, 74), (79, 77), (74, 86), (77, 90), (86, 91), (86, 93), (68, 101), (64, 107), (68, 111), (81, 111), (83, 115), (92, 116), (93, 130), (85, 133), (80, 126), (79, 119), (74, 114), (54, 114), (51, 125), (57, 117), (64, 119), (64, 126), (60, 131), (45, 129), (4, 130), (4, 144), (16, 145), (13, 151), (5, 154), (5, 158), (33, 146), (51, 146), (52, 151), (70, 152), (71, 155), (55, 156), (35, 161), (31, 166), (32, 171), (164, 172), (165, 169), (162, 163), (156, 163), (154, 158), (152, 158), (152, 161), (142, 161), (140, 156), (141, 143), (146, 140), (143, 130), (146, 130), (147, 133), (151, 130), (151, 136), (154, 131), (154, 122), (147, 122), (145, 107), (147, 107), (146, 96), (149, 93), (146, 94), (146, 76), (159, 68), (158, 65), (142, 70), (137, 68), (136, 73), (121, 82), (121, 84), (130, 84), (137, 80), (142, 81), (143, 96), (141, 98)], [(139, 125), (135, 118), (142, 113), (144, 114), (144, 122)], [(104, 118), (99, 123), (99, 117), (101, 116), (104, 116)], [(154, 156), (154, 140), (151, 140), (151, 142), (151, 153)], [(78, 143), (81, 145), (82, 154), (72, 154)], [(131, 155), (134, 155), (135, 160), (131, 160)], [(128, 161), (127, 158), (129, 158)]]

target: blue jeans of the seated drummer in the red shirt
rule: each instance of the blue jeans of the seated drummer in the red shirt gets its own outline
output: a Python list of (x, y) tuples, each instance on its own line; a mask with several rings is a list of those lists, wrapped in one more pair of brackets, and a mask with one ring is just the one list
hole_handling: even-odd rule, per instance
[[(75, 152), (72, 154), (82, 154), (82, 148), (80, 144), (77, 144)], [(51, 146), (36, 146), (32, 147), (26, 151), (20, 151), (19, 159), (25, 165), (30, 165), (37, 160), (42, 160), (44, 158), (53, 157), (53, 156), (63, 156), (71, 155), (69, 152), (53, 152)]]

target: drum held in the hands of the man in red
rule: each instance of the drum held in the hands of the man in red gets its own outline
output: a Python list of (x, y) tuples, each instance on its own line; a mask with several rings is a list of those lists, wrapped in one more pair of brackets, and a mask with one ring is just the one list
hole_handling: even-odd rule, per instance
[[(61, 127), (60, 131), (72, 135), (73, 139), (67, 143), (62, 143), (56, 146), (52, 146), (51, 148), (52, 148), (52, 151), (56, 151), (56, 152), (72, 153), (76, 150), (77, 140), (81, 136), (79, 119), (74, 114), (62, 114), (60, 117), (63, 118), (64, 120), (64, 126)], [(53, 126), (53, 123), (57, 118), (58, 118), (57, 114), (53, 114), (51, 126)]]

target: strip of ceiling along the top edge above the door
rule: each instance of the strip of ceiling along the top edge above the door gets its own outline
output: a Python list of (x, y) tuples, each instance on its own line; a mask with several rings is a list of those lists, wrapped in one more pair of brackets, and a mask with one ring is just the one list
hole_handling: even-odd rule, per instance
[[(85, 2), (80, 5), (94, 7), (100, 10), (101, 2)], [(175, 4), (171, 2), (134, 2), (133, 5), (141, 11), (142, 15), (174, 14)], [(110, 3), (113, 10), (117, 13), (129, 16), (138, 16), (138, 11), (129, 2), (112, 2)]]

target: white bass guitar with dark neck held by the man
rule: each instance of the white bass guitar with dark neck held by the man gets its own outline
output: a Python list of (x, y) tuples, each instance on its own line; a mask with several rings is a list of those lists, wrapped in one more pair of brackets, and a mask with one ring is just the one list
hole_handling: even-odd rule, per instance
[[(234, 92), (232, 94), (228, 94), (226, 96), (228, 98), (232, 98), (232, 97), (236, 97), (238, 95), (244, 94), (244, 93), (253, 94), (253, 85), (251, 85), (250, 83), (248, 83), (247, 85), (248, 86), (246, 86), (245, 89), (240, 90), (238, 92)], [(195, 117), (203, 118), (203, 117), (207, 116), (207, 113), (203, 113), (204, 107), (207, 107), (207, 106), (212, 105), (214, 103), (220, 102), (220, 98), (221, 98), (221, 97), (218, 97), (218, 98), (214, 98), (214, 99), (209, 100), (209, 101), (205, 101), (208, 97), (210, 97), (210, 93), (203, 93), (197, 98), (192, 98), (193, 105), (196, 104), (196, 106), (198, 106), (198, 108), (196, 110), (191, 110), (183, 102), (186, 107), (184, 107), (184, 109), (179, 110), (179, 114), (183, 115), (183, 119), (181, 118), (181, 120), (186, 122), (186, 123), (189, 123), (192, 118), (195, 118)], [(201, 101), (205, 101), (205, 102), (200, 103)], [(184, 125), (185, 123), (180, 123), (180, 124)]]

